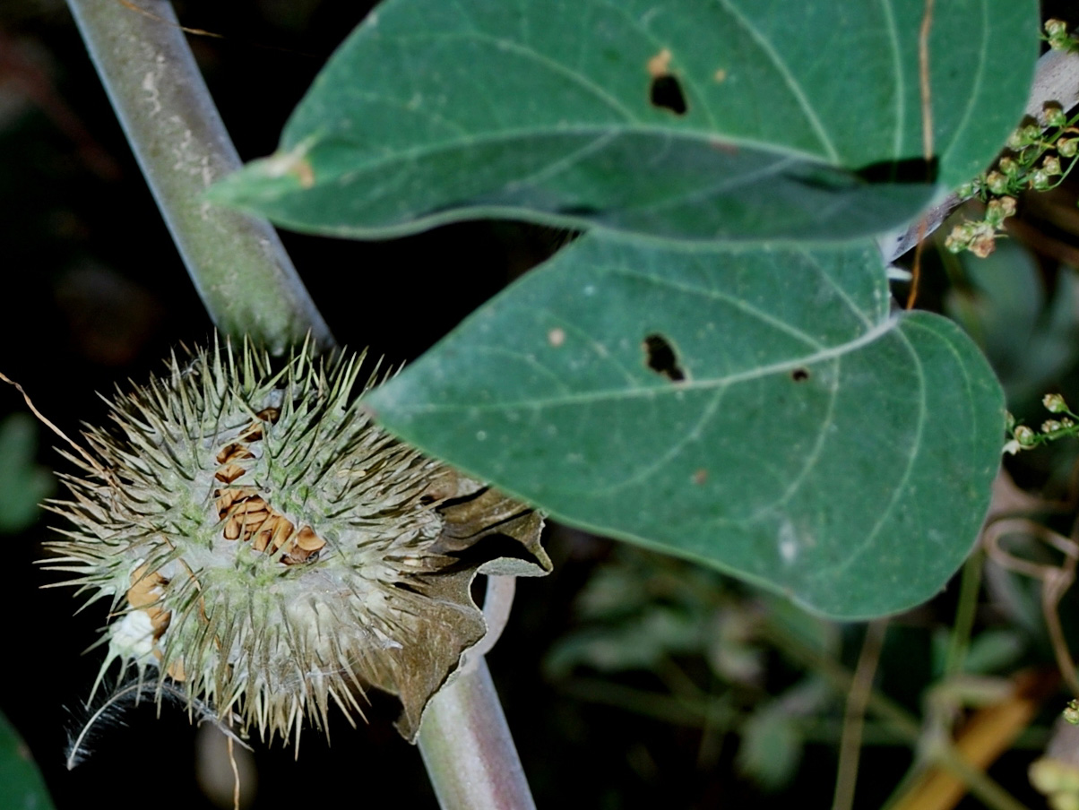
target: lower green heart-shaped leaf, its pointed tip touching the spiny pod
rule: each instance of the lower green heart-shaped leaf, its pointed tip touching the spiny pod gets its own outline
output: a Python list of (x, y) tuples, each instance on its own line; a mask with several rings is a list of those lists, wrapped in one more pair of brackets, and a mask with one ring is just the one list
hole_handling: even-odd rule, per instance
[(999, 385), (879, 255), (585, 236), (368, 395), (433, 455), (578, 526), (836, 617), (902, 610), (988, 505)]

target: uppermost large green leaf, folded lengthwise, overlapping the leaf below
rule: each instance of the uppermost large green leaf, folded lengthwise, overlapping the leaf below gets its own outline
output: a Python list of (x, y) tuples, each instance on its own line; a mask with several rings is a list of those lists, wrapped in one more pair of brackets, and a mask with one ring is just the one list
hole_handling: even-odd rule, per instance
[[(688, 241), (876, 233), (933, 192), (929, 5), (390, 0), (315, 81), (278, 152), (213, 198), (359, 237), (480, 216)], [(1037, 23), (1035, 0), (932, 5), (943, 187), (984, 168), (1019, 122)]]

